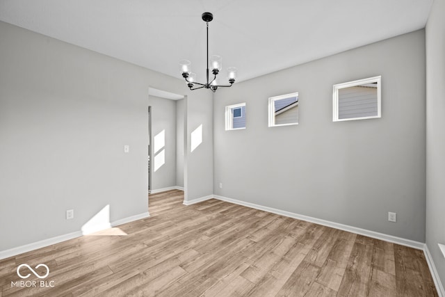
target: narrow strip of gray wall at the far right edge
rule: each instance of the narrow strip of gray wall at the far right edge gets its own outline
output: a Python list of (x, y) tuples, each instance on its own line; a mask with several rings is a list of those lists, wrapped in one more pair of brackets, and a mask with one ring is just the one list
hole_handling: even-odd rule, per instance
[(445, 259), (445, 1), (435, 0), (426, 24), (426, 244), (442, 284)]

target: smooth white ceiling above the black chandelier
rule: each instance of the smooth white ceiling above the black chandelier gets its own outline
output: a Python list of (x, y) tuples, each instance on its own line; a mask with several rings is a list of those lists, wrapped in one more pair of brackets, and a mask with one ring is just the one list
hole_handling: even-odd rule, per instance
[[(209, 51), (238, 81), (425, 27), (432, 0), (0, 0), (0, 20), (181, 79)], [(1, 39), (0, 39), (1, 40)]]

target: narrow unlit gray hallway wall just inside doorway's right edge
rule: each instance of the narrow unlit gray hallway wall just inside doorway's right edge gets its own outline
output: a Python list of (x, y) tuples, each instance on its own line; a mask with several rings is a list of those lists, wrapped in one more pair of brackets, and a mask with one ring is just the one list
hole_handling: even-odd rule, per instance
[(185, 100), (176, 101), (176, 185), (184, 187)]

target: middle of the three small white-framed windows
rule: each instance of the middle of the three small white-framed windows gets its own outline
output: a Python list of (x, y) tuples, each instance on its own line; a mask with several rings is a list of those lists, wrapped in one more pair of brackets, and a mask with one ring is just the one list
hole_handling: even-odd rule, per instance
[(269, 127), (298, 125), (298, 93), (269, 98)]

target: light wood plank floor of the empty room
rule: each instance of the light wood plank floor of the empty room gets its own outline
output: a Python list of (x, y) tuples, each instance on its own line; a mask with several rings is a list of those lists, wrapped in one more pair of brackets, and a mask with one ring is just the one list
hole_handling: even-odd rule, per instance
[[(0, 297), (437, 296), (421, 250), (183, 199), (150, 195), (150, 218), (1, 260)], [(47, 264), (54, 287), (11, 287), (23, 263)]]

